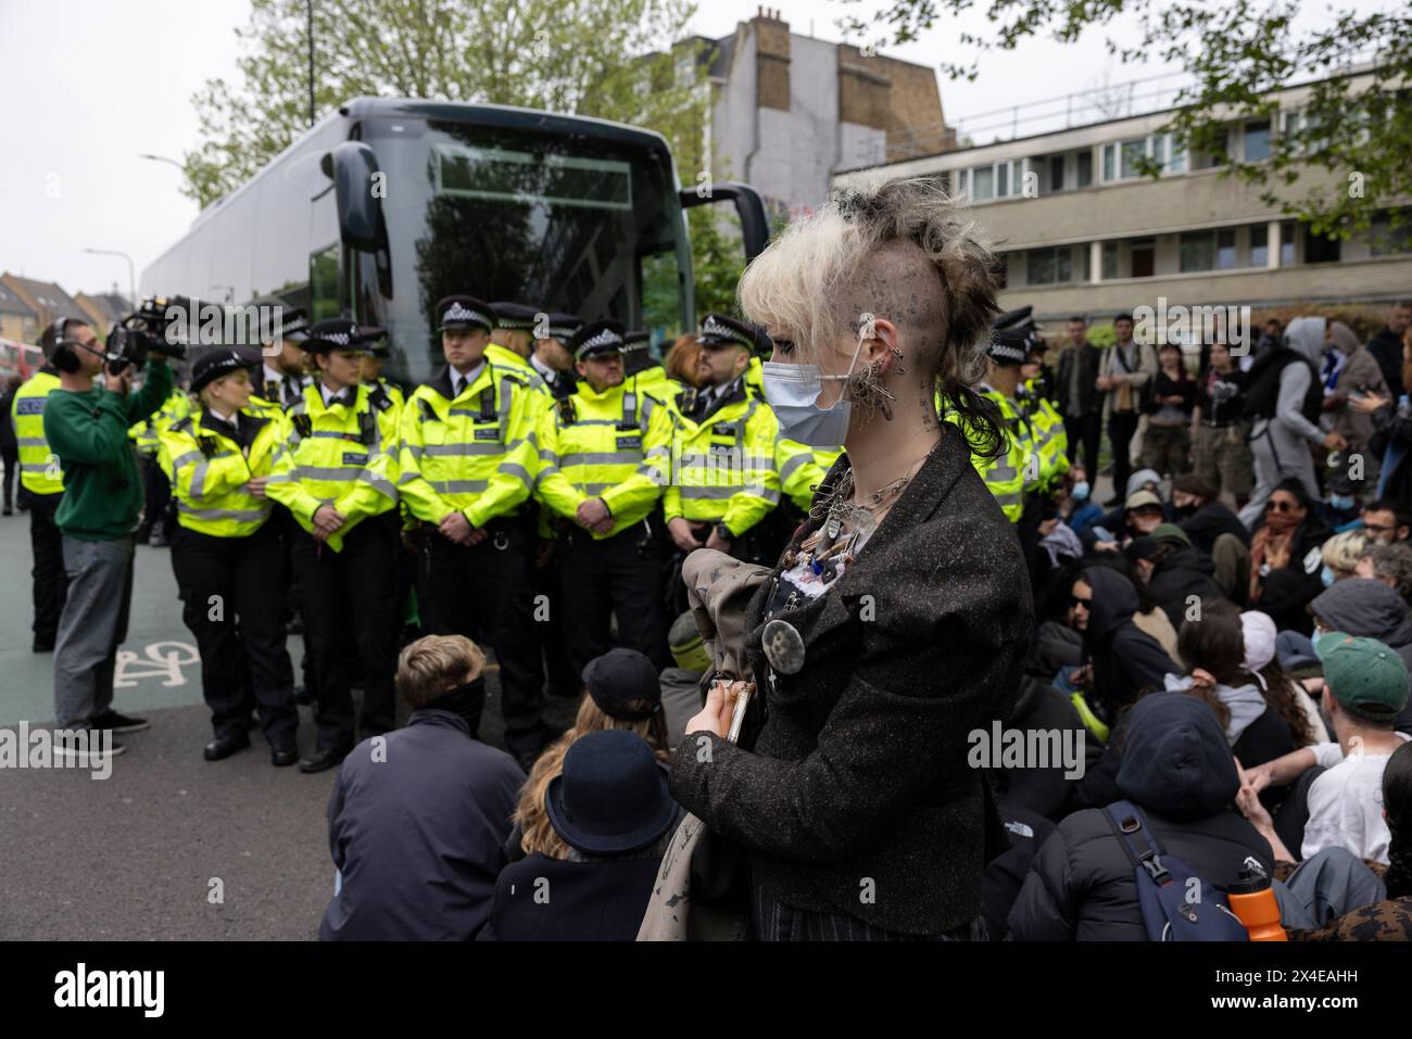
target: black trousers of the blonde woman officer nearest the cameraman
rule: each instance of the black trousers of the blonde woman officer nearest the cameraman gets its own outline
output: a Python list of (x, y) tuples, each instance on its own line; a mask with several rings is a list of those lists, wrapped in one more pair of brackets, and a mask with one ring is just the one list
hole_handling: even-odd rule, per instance
[(186, 527), (178, 527), (172, 538), (182, 621), (196, 637), (201, 689), (217, 738), (243, 734), (254, 706), (270, 745), (294, 747), (299, 713), (280, 615), (280, 551), (274, 522), (243, 538)]

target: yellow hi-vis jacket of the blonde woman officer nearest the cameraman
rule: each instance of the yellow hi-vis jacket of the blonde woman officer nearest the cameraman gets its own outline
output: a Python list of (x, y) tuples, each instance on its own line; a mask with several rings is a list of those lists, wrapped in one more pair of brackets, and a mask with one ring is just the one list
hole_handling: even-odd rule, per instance
[(270, 498), (257, 498), (246, 484), (274, 472), (274, 456), (284, 439), (277, 418), (246, 409), (258, 424), (249, 450), (225, 432), (206, 426), (206, 412), (198, 407), (158, 433), (157, 462), (172, 484), (176, 522), (213, 538), (244, 538), (261, 527), (274, 511)]

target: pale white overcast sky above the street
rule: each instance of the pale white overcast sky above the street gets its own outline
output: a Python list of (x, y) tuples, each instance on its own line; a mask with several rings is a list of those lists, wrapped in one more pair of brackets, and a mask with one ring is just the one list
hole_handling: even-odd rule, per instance
[[(839, 3), (771, 6), (794, 32), (840, 38)], [(239, 79), (234, 30), (249, 10), (249, 0), (0, 0), (0, 69), (8, 88), (0, 104), (0, 271), (58, 281), (69, 292), (114, 284), (126, 291), (126, 261), (83, 253), (92, 247), (130, 254), (141, 280), (143, 267), (185, 233), (196, 205), (179, 193), (175, 167), (138, 155), (181, 158), (196, 147), (191, 97), (206, 79)], [(755, 10), (753, 0), (705, 0), (693, 28), (724, 37)], [(983, 31), (984, 24), (973, 13), (885, 52), (936, 66), (955, 56), (962, 28)], [(64, 75), (55, 72), (59, 59)], [(995, 123), (967, 119), (979, 113), (1099, 86), (1106, 69), (1101, 37), (1039, 41), (983, 58), (976, 82), (942, 79), (942, 107), (964, 131)], [(1111, 68), (1107, 76), (1121, 82), (1162, 71)]]

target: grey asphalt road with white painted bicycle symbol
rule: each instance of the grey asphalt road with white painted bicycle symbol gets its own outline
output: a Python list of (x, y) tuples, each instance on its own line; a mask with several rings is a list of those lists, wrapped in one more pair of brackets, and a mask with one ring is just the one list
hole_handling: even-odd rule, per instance
[[(52, 655), (32, 654), (28, 515), (0, 518), (0, 727), (52, 724)], [(298, 663), (302, 642), (289, 639)], [(210, 716), (167, 549), (140, 546), (114, 706), (112, 775), (0, 768), (0, 940), (313, 939), (333, 894), (325, 809), (335, 772), (273, 768), (264, 740), (202, 758)], [(130, 655), (128, 655), (130, 654)], [(501, 745), (498, 682), (481, 734)], [(575, 703), (548, 714), (572, 720)], [(313, 744), (301, 709), (299, 747)]]

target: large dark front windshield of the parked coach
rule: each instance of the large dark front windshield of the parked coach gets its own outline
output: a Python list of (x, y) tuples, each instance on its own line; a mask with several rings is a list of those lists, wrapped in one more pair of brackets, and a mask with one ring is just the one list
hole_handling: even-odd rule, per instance
[(692, 313), (685, 220), (661, 152), (417, 119), (369, 119), (360, 137), (387, 175), (391, 296), (360, 254), (356, 305), (387, 326), (394, 367), (414, 378), (442, 363), (433, 309), (457, 292), (614, 318), (654, 342)]

